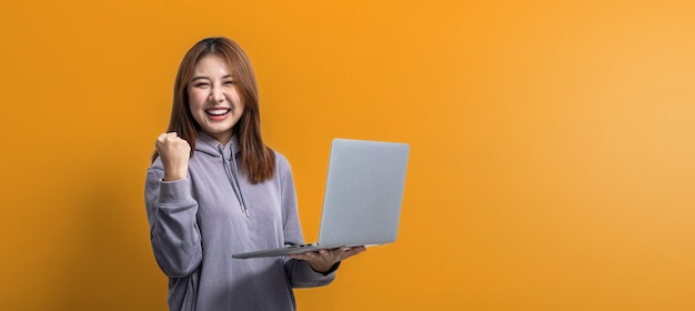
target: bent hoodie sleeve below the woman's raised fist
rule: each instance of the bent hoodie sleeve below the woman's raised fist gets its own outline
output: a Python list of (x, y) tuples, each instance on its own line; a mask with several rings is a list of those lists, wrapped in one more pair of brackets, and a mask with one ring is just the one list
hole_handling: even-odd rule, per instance
[(202, 261), (200, 230), (195, 220), (198, 202), (188, 179), (162, 181), (159, 159), (148, 170), (144, 188), (154, 258), (170, 278), (191, 274)]

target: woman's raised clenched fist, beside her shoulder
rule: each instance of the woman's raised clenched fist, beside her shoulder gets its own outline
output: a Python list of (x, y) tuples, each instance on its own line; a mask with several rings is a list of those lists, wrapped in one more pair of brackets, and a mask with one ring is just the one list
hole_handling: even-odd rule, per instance
[(164, 181), (184, 179), (191, 158), (191, 146), (175, 132), (162, 133), (154, 143), (164, 165)]

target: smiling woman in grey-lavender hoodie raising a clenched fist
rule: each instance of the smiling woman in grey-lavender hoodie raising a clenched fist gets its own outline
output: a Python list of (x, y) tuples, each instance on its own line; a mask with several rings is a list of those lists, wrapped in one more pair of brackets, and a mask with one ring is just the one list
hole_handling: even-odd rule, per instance
[(288, 160), (263, 143), (255, 77), (226, 38), (198, 42), (174, 84), (145, 204), (171, 310), (294, 310), (292, 288), (320, 287), (364, 248), (291, 258), (232, 253), (303, 243)]

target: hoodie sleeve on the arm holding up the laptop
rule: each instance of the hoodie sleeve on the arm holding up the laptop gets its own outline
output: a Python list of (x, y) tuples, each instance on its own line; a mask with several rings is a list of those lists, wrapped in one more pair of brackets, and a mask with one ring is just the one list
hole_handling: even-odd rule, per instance
[[(292, 170), (288, 160), (276, 153), (278, 174), (281, 187), (282, 218), (285, 244), (303, 244), (302, 228), (299, 220), (296, 192)], [(323, 274), (314, 271), (309, 262), (285, 257), (284, 267), (293, 288), (312, 288), (328, 285), (335, 279), (335, 269)], [(338, 268), (338, 264), (335, 265)]]

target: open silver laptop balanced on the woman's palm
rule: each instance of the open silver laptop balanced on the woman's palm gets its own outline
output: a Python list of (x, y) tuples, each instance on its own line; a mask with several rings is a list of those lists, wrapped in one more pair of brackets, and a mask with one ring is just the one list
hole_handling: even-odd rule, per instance
[(232, 257), (278, 257), (394, 242), (399, 232), (409, 152), (410, 146), (402, 142), (334, 139), (319, 241)]

